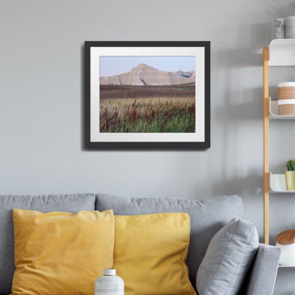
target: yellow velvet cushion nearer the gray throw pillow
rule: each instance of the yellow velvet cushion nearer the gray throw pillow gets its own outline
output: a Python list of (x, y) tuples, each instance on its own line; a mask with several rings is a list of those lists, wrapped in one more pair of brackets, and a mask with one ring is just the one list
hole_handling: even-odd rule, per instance
[(195, 295), (185, 265), (186, 213), (115, 216), (114, 268), (125, 295)]

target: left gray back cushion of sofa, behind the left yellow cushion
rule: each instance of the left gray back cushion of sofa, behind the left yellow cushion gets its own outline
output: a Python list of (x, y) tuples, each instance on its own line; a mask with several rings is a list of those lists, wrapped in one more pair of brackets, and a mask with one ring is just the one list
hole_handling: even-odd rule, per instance
[(0, 294), (11, 294), (14, 265), (14, 232), (12, 209), (29, 209), (40, 212), (64, 211), (76, 213), (94, 210), (94, 195), (0, 195)]

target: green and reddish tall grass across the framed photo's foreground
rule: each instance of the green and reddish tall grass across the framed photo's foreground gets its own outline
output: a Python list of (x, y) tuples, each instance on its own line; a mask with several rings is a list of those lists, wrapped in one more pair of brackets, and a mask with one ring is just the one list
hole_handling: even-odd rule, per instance
[(175, 101), (133, 102), (100, 107), (100, 132), (190, 133), (195, 132), (195, 103)]

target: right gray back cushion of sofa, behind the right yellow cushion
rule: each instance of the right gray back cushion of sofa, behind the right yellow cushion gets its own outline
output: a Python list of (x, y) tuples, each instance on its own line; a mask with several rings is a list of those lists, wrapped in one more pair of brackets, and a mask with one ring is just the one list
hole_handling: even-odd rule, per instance
[(96, 194), (95, 209), (113, 209), (116, 215), (163, 212), (186, 212), (190, 215), (191, 233), (187, 266), (192, 285), (211, 238), (233, 218), (241, 219), (243, 205), (239, 196), (222, 196), (206, 201), (168, 198), (124, 198)]

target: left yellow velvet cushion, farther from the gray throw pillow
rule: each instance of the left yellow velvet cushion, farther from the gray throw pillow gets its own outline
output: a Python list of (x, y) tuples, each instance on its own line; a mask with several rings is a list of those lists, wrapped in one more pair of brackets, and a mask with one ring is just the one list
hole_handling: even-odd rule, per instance
[(94, 281), (113, 265), (112, 210), (41, 213), (13, 210), (12, 295), (93, 295)]

